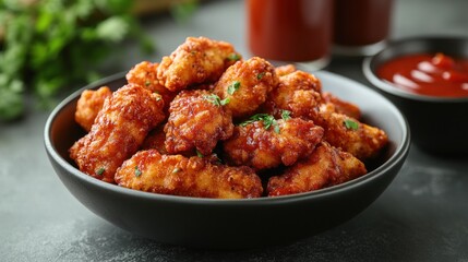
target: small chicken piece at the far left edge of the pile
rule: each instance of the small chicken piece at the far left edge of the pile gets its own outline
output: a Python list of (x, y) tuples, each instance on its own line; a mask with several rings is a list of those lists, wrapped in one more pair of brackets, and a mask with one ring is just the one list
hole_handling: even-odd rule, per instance
[(103, 108), (104, 100), (110, 95), (112, 92), (107, 86), (101, 86), (96, 91), (86, 90), (81, 94), (76, 104), (75, 121), (86, 132), (89, 132), (97, 114)]

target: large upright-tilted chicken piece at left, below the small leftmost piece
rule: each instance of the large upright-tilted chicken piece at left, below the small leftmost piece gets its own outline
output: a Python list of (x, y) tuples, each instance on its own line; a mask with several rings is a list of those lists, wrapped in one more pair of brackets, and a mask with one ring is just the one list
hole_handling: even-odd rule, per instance
[(107, 182), (165, 118), (158, 94), (128, 84), (106, 99), (89, 133), (70, 148), (80, 170)]

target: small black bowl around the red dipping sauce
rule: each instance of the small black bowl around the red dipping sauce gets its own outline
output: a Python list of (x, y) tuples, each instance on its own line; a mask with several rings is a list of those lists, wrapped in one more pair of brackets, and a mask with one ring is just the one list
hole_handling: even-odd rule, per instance
[(395, 40), (363, 61), (365, 78), (403, 111), (415, 144), (428, 153), (445, 156), (468, 154), (468, 97), (447, 98), (411, 94), (382, 81), (377, 68), (410, 53), (443, 52), (468, 58), (468, 38), (415, 37)]

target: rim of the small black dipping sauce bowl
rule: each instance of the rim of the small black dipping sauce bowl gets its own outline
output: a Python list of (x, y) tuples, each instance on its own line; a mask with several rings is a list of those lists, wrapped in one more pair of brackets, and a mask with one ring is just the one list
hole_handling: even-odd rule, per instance
[[(430, 95), (421, 95), (421, 94), (413, 94), (406, 91), (403, 91), (400, 88), (395, 87), (392, 83), (388, 81), (384, 81), (380, 79), (375, 71), (373, 70), (372, 64), (374, 61), (382, 56), (385, 52), (388, 52), (392, 49), (399, 48), (405, 45), (410, 45), (413, 43), (431, 43), (431, 41), (459, 41), (459, 43), (467, 43), (468, 45), (468, 37), (463, 36), (412, 36), (412, 37), (405, 37), (400, 39), (395, 39), (388, 41), (386, 47), (375, 53), (374, 56), (370, 56), (363, 59), (362, 61), (362, 71), (364, 73), (364, 76), (368, 79), (369, 82), (371, 82), (372, 85), (377, 87), (379, 90), (389, 93), (392, 95), (418, 100), (418, 102), (427, 102), (427, 103), (443, 103), (443, 104), (458, 104), (458, 103), (467, 103), (468, 96), (466, 97), (439, 97), (439, 96), (430, 96)], [(424, 50), (421, 50), (423, 52)], [(406, 52), (405, 52), (406, 55)], [(401, 53), (399, 55), (401, 56)], [(395, 58), (395, 56), (391, 56), (389, 59)]]

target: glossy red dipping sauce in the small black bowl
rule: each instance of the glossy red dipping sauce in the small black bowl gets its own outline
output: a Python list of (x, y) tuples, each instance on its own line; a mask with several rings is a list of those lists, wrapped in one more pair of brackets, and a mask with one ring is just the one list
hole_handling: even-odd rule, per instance
[(468, 97), (468, 59), (443, 53), (398, 57), (377, 68), (377, 75), (406, 92)]

